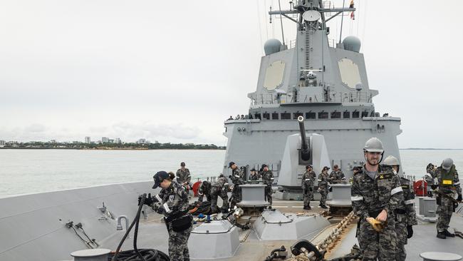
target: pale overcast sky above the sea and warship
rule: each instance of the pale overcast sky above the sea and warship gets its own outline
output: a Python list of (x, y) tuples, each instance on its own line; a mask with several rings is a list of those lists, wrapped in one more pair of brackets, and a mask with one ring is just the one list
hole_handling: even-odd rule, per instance
[[(224, 120), (248, 111), (264, 42), (281, 39), (269, 6), (278, 1), (0, 0), (0, 140), (226, 145)], [(400, 148), (463, 148), (463, 2), (355, 7), (343, 38), (362, 41), (376, 111), (402, 118)], [(328, 26), (338, 39), (340, 19)], [(296, 38), (293, 22), (283, 29)]]

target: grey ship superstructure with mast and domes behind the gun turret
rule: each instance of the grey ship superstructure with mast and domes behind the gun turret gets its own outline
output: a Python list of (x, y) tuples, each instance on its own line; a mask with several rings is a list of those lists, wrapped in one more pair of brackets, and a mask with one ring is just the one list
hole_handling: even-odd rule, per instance
[[(297, 26), (290, 44), (269, 39), (264, 44), (256, 91), (249, 93), (251, 106), (243, 119), (225, 121), (228, 138), (224, 171), (229, 161), (259, 170), (267, 164), (279, 175), (288, 135), (299, 133), (303, 116), (307, 133), (323, 135), (331, 168), (338, 165), (346, 177), (361, 165), (363, 144), (371, 137), (383, 141), (387, 155), (400, 160), (397, 135), (400, 118), (375, 111), (360, 40), (348, 36), (331, 46), (327, 22), (354, 8), (329, 9), (321, 0), (294, 1), (291, 10), (269, 11)], [(321, 173), (323, 165), (313, 165)], [(298, 175), (303, 168), (298, 170)], [(275, 181), (278, 179), (276, 178)]]

